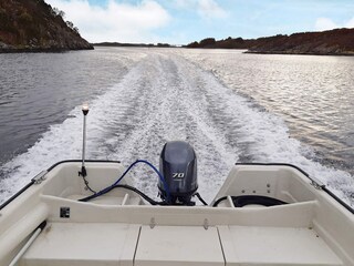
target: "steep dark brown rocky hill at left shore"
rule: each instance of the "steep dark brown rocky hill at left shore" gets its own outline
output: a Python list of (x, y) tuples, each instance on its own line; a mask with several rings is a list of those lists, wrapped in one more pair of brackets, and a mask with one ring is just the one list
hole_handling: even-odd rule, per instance
[(93, 49), (44, 0), (0, 0), (0, 52)]

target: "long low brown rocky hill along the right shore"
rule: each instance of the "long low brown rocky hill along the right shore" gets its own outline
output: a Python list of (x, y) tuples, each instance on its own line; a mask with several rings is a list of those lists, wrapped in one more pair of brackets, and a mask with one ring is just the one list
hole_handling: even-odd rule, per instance
[(207, 38), (192, 42), (187, 48), (247, 49), (249, 53), (354, 55), (354, 29), (279, 34), (250, 40), (228, 38), (216, 41)]

